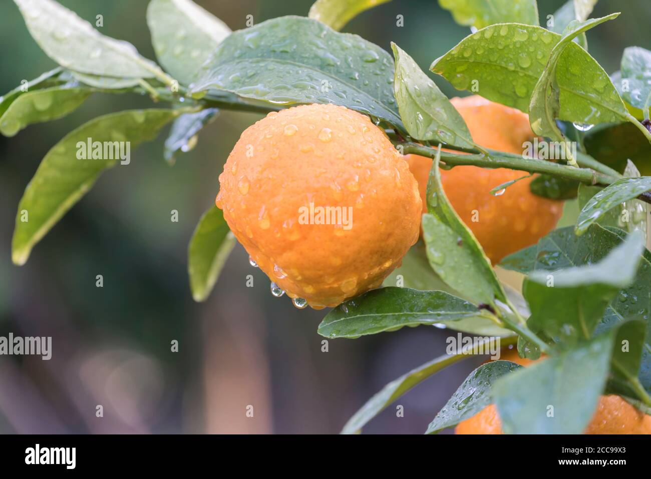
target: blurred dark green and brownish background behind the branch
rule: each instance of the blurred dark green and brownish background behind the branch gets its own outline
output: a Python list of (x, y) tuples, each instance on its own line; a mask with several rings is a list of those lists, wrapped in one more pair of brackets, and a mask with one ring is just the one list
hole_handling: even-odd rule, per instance
[[(100, 31), (154, 59), (145, 0), (64, 0), (79, 16), (104, 16)], [(305, 0), (197, 2), (233, 30), (286, 14)], [(542, 23), (562, 1), (539, 1)], [(611, 73), (626, 46), (651, 46), (648, 0), (601, 0), (592, 16), (624, 10), (588, 32), (590, 53)], [(404, 27), (396, 27), (396, 15)], [(423, 70), (469, 33), (435, 0), (394, 0), (344, 31), (389, 49), (396, 42)], [(53, 68), (18, 8), (0, 2), (0, 93)], [(440, 77), (448, 96), (457, 92)], [(276, 299), (269, 281), (234, 253), (206, 303), (191, 299), (187, 243), (214, 202), (217, 176), (240, 133), (260, 116), (223, 112), (195, 150), (169, 167), (165, 132), (105, 172), (90, 193), (13, 266), (16, 207), (40, 159), (68, 131), (97, 115), (150, 105), (148, 98), (96, 94), (61, 120), (0, 137), (0, 336), (53, 336), (53, 357), (0, 356), (0, 432), (336, 433), (385, 383), (445, 352), (448, 331), (420, 327), (358, 340), (316, 334), (324, 311)], [(178, 210), (179, 221), (170, 221)], [(103, 275), (104, 288), (96, 288)], [(246, 287), (253, 275), (253, 288)], [(454, 333), (456, 335), (456, 333)], [(171, 341), (178, 340), (178, 353)], [(366, 432), (422, 433), (483, 358), (446, 369), (372, 421)], [(96, 405), (104, 417), (96, 417)], [(245, 415), (253, 405), (254, 417)]]

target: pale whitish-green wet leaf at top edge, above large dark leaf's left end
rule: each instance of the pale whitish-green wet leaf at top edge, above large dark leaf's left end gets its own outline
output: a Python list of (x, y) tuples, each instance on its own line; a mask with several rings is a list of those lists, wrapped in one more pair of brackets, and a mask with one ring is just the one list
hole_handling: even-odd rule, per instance
[(230, 35), (223, 21), (191, 0), (150, 1), (147, 25), (158, 61), (183, 85), (197, 79), (203, 62)]

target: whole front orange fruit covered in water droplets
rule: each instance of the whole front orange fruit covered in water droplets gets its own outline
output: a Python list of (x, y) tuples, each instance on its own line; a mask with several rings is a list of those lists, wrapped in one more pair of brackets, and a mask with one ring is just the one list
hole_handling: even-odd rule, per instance
[(243, 131), (219, 184), (230, 230), (271, 281), (313, 308), (377, 288), (418, 239), (407, 162), (345, 107), (270, 113)]

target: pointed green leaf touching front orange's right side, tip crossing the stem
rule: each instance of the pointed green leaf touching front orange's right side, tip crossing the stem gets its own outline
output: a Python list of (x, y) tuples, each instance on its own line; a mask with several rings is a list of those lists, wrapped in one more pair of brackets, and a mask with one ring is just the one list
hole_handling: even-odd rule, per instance
[(445, 196), (439, 172), (440, 157), (432, 162), (427, 184), (428, 213), (422, 215), (427, 258), (437, 275), (475, 303), (506, 302), (495, 271), (473, 233)]

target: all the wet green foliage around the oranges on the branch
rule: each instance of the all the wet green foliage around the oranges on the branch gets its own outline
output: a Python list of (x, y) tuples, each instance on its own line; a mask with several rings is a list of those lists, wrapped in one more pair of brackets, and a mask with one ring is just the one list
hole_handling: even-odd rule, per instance
[[(643, 246), (646, 204), (635, 199), (648, 193), (651, 182), (628, 161), (648, 161), (651, 133), (639, 120), (649, 116), (651, 52), (626, 49), (620, 72), (609, 77), (587, 52), (585, 36), (618, 14), (589, 19), (596, 0), (570, 0), (546, 29), (539, 25), (535, 0), (439, 0), (473, 33), (436, 59), (431, 70), (457, 89), (473, 90), (478, 82), (485, 98), (529, 113), (538, 135), (578, 141), (580, 154), (568, 154), (569, 166), (562, 171), (581, 166), (591, 169), (587, 178), (602, 173), (612, 179), (605, 188), (578, 185), (570, 173), (533, 182), (536, 194), (577, 196), (581, 213), (575, 227), (555, 230), (504, 260), (503, 267), (527, 275), (521, 295), (499, 281), (450, 206), (439, 177), (441, 145), (471, 152), (463, 156), (467, 161), (505, 154), (474, 143), (463, 118), (408, 53), (392, 44), (392, 57), (357, 35), (337, 31), (382, 2), (318, 0), (309, 18), (275, 18), (231, 33), (190, 0), (152, 0), (147, 21), (163, 70), (53, 0), (15, 1), (36, 42), (60, 66), (0, 98), (4, 135), (61, 118), (94, 93), (148, 94), (169, 103), (99, 116), (51, 148), (18, 206), (16, 264), (24, 264), (34, 245), (117, 163), (79, 161), (77, 141), (129, 141), (133, 147), (173, 122), (163, 154), (173, 163), (176, 152), (191, 149), (219, 109), (264, 112), (297, 103), (337, 103), (371, 116), (398, 139), (435, 143), (439, 150), (422, 217), (424, 241), (395, 273), (411, 287), (387, 286), (342, 303), (320, 324), (321, 335), (355, 338), (436, 324), (501, 336), (503, 344), (517, 340), (527, 357), (549, 356), (527, 369), (505, 361), (480, 366), (429, 432), (454, 426), (490, 402), (497, 404), (505, 431), (515, 433), (580, 433), (604, 392), (651, 407), (651, 253)], [(600, 126), (590, 128), (594, 124)], [(637, 157), (624, 157), (624, 164), (608, 141), (624, 141), (621, 131), (627, 139), (637, 135), (631, 140)], [(434, 157), (436, 150), (430, 152)], [(519, 161), (530, 172), (547, 165)], [(189, 245), (197, 301), (210, 294), (233, 245), (221, 211), (210, 208)], [(360, 430), (406, 390), (468, 352), (434, 359), (396, 379), (344, 431)], [(546, 417), (550, 404), (557, 411), (553, 420)]]

